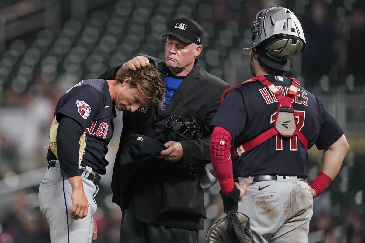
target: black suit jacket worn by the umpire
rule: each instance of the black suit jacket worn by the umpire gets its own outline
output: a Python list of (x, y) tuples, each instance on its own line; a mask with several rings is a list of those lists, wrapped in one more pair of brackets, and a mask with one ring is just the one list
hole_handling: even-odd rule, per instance
[[(157, 67), (165, 80), (168, 67), (164, 61), (146, 56)], [(112, 79), (119, 67), (104, 72), (100, 79)], [(191, 166), (210, 163), (209, 142), (212, 121), (220, 105), (220, 97), (230, 85), (208, 74), (196, 59), (193, 69), (178, 87), (166, 110), (161, 114), (156, 107), (142, 112), (123, 113), (123, 130), (115, 159), (112, 191), (113, 202), (128, 208), (134, 193), (134, 208), (142, 222), (163, 226), (201, 230), (204, 228), (204, 193)], [(180, 98), (180, 97), (181, 98)], [(184, 105), (185, 102), (185, 105)], [(172, 116), (196, 116), (204, 138), (181, 141), (183, 158), (169, 162), (153, 158), (139, 165), (130, 157), (129, 139), (133, 133), (157, 137)]]

